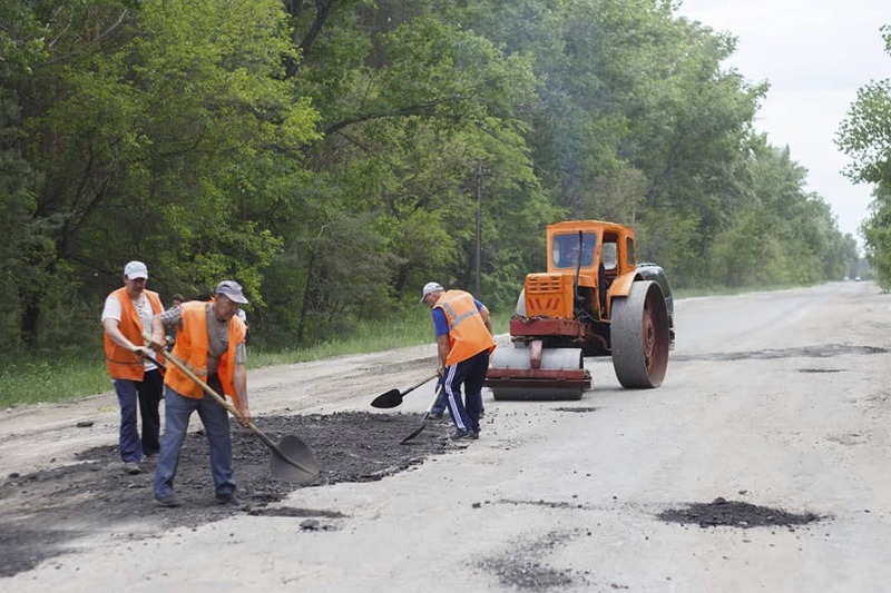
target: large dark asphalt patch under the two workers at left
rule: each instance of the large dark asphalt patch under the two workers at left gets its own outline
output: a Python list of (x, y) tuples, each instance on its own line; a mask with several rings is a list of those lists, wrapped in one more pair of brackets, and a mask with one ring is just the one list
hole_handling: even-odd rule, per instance
[[(271, 435), (296, 432), (313, 443), (324, 470), (313, 483), (303, 485), (307, 487), (382, 480), (452, 447), (444, 428), (431, 431), (417, 446), (398, 446), (400, 435), (415, 424), (413, 415), (343, 412), (266, 416), (258, 427)], [(144, 463), (141, 474), (130, 475), (121, 467), (116, 445), (77, 453), (76, 463), (26, 475), (10, 474), (0, 485), (0, 501), (16, 501), (0, 518), (0, 576), (31, 570), (45, 559), (65, 553), (66, 546), (85, 535), (115, 525), (126, 531), (127, 523), (136, 517), (176, 528), (197, 527), (237, 513), (342, 516), (325, 510), (281, 511), (271, 506), (301, 486), (273, 477), (265, 445), (234, 419), (231, 425), (238, 505), (215, 504), (207, 438), (200, 429), (192, 432), (183, 444), (175, 486), (184, 504), (177, 508), (153, 504), (154, 464)], [(138, 532), (128, 537), (137, 540)]]

